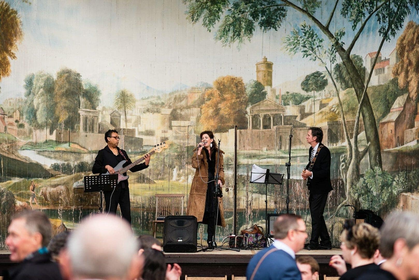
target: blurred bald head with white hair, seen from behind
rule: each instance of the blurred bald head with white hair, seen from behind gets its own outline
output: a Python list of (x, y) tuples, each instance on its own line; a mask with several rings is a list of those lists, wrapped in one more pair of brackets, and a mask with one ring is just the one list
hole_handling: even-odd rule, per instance
[(142, 270), (137, 240), (128, 222), (96, 215), (70, 235), (62, 269), (70, 279), (134, 279)]

